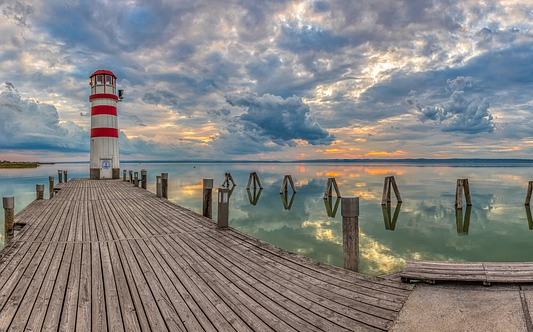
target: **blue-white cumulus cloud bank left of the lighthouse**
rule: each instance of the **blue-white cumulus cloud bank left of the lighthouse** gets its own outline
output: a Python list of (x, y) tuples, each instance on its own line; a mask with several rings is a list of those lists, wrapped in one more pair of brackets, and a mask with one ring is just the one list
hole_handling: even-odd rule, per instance
[(0, 86), (0, 149), (89, 151), (89, 134), (60, 122), (55, 106), (23, 99), (13, 84)]

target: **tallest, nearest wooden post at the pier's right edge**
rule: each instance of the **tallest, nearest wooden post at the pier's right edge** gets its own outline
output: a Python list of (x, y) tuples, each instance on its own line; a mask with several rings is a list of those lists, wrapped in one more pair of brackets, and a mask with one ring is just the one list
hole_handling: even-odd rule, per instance
[(343, 197), (341, 201), (344, 268), (359, 270), (359, 197)]

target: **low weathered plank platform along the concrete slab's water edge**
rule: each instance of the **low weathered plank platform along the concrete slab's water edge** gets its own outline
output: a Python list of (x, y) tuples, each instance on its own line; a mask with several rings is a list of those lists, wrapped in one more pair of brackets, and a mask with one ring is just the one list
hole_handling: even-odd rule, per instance
[(491, 283), (532, 283), (532, 263), (408, 261), (400, 273), (404, 282), (466, 281)]

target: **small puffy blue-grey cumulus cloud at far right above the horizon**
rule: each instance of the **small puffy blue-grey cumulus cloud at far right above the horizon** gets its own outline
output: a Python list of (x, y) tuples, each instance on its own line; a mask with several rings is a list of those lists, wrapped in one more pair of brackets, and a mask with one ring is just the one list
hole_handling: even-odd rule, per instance
[(442, 125), (444, 132), (463, 132), (478, 134), (493, 132), (495, 123), (486, 99), (468, 99), (464, 89), (471, 86), (472, 77), (459, 76), (448, 80), (451, 91), (449, 99), (440, 105), (422, 106), (414, 92), (407, 99), (417, 108), (418, 118), (422, 121), (434, 121)]

